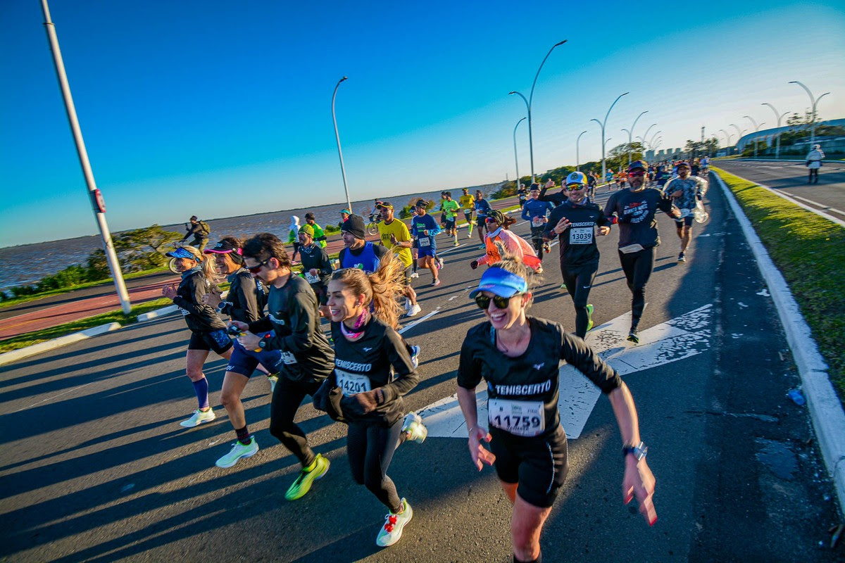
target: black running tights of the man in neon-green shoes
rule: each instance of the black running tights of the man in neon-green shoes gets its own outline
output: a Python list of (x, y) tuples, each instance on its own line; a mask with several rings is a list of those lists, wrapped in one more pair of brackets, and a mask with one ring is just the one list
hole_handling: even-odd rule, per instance
[(299, 405), (306, 395), (313, 395), (319, 389), (320, 382), (292, 382), (284, 375), (279, 377), (270, 405), (270, 434), (293, 452), (308, 467), (314, 460), (314, 452), (308, 447), (308, 438), (299, 426), (293, 424)]

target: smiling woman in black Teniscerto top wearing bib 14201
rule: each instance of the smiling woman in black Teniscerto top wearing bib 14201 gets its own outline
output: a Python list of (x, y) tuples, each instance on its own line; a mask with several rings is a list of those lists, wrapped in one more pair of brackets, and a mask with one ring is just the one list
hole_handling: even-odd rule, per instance
[(330, 410), (324, 404), (330, 390), (342, 395), (337, 410), (348, 425), (346, 453), (352, 478), (390, 511), (376, 537), (381, 547), (399, 541), (413, 517), (411, 505), (387, 475), (390, 461), (403, 441), (422, 442), (428, 434), (417, 414), (403, 417), (402, 396), (419, 381), (406, 344), (395, 330), (403, 269), (396, 257), (386, 257), (374, 273), (346, 269), (332, 275), (329, 304), (335, 369), (314, 401), (322, 398), (315, 406)]

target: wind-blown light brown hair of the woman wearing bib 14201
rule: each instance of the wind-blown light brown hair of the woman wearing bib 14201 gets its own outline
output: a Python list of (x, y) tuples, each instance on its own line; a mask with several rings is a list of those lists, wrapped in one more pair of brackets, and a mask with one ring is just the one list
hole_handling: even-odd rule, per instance
[(363, 295), (365, 307), (373, 304), (373, 314), (390, 328), (399, 326), (401, 306), (397, 296), (405, 290), (405, 266), (395, 254), (381, 258), (379, 268), (365, 273), (358, 268), (344, 268), (331, 275), (354, 295)]

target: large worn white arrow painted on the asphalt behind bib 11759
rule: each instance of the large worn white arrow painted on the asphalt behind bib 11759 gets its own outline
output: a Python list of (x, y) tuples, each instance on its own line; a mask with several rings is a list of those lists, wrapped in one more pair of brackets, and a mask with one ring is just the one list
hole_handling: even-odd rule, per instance
[[(640, 344), (628, 342), (630, 312), (594, 328), (586, 335), (598, 355), (625, 376), (635, 371), (684, 360), (710, 349), (712, 305), (701, 306), (671, 321), (662, 322), (640, 333)], [(566, 435), (574, 440), (581, 436), (592, 409), (602, 392), (569, 364), (560, 366), (560, 422)], [(487, 420), (487, 387), (476, 390), (478, 420)], [(425, 420), (428, 436), (466, 438), (466, 423), (457, 395), (440, 399), (418, 414)]]

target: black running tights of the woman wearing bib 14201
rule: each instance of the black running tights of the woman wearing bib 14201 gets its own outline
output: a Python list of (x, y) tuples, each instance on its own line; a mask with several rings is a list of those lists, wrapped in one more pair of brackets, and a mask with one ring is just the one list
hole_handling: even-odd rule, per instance
[(402, 501), (396, 493), (396, 485), (387, 476), (387, 468), (393, 452), (399, 447), (401, 432), (402, 419), (390, 428), (350, 423), (346, 435), (346, 455), (352, 479), (358, 485), (365, 485), (393, 513), (401, 510)]

